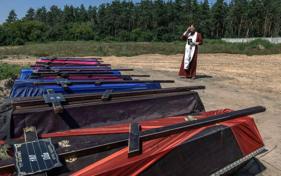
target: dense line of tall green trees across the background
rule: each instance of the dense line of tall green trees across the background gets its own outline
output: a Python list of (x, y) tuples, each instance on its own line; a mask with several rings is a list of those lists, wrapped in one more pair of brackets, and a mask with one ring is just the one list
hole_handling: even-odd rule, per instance
[(172, 42), (189, 24), (203, 38), (279, 37), (281, 0), (115, 0), (86, 9), (65, 5), (29, 8), (18, 19), (12, 9), (0, 25), (0, 45), (50, 41)]

